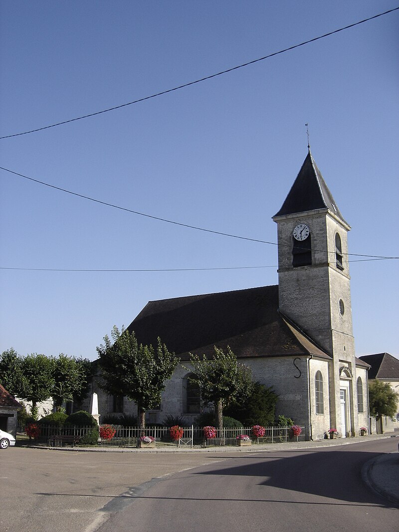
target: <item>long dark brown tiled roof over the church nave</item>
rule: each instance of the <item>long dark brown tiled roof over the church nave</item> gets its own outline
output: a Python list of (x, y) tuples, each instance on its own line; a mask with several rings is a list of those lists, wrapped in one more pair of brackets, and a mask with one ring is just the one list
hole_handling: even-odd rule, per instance
[(214, 345), (229, 345), (238, 359), (314, 355), (331, 360), (279, 313), (278, 286), (150, 301), (128, 330), (147, 345), (156, 345), (159, 336), (181, 360), (189, 360), (189, 352), (212, 356)]

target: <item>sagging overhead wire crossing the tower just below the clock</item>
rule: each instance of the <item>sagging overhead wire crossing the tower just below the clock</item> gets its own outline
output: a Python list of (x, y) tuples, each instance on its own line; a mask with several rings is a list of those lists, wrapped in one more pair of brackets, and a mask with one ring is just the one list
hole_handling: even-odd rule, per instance
[[(66, 190), (65, 188), (56, 187), (55, 185), (50, 185), (50, 184), (48, 184), (48, 183), (46, 183), (44, 181), (39, 181), (38, 179), (34, 179), (32, 177), (25, 176), (22, 173), (14, 172), (13, 170), (9, 170), (7, 168), (0, 167), (0, 170), (4, 170), (5, 172), (12, 173), (15, 176), (23, 177), (24, 179), (28, 179), (29, 181), (34, 181), (35, 183), (38, 183), (39, 185), (44, 185), (46, 187), (50, 187), (50, 188), (54, 188), (56, 190), (60, 190), (61, 192), (65, 192), (66, 194), (71, 194), (72, 196), (78, 196), (80, 198), (84, 198), (84, 200), (89, 200), (89, 201), (92, 201), (92, 202), (95, 202), (95, 203), (99, 203), (101, 205), (106, 205), (108, 207), (113, 207), (114, 209), (118, 209), (120, 211), (130, 212), (132, 214), (138, 214), (138, 215), (144, 216), (146, 218), (152, 218), (153, 220), (159, 220), (161, 222), (166, 222), (166, 223), (173, 223), (173, 225), (177, 225), (177, 226), (181, 226), (181, 227), (187, 227), (188, 229), (195, 229), (196, 231), (209, 232), (209, 233), (213, 233), (214, 235), (228, 236), (228, 237), (231, 237), (231, 238), (238, 238), (240, 240), (249, 240), (250, 242), (259, 242), (261, 244), (270, 244), (272, 246), (277, 246), (278, 245), (277, 242), (269, 242), (268, 240), (260, 240), (260, 239), (257, 239), (257, 238), (250, 238), (250, 237), (245, 237), (245, 236), (232, 235), (230, 233), (225, 233), (225, 232), (221, 232), (221, 231), (215, 231), (213, 229), (205, 229), (203, 227), (191, 226), (191, 225), (188, 225), (187, 223), (181, 223), (181, 222), (176, 222), (174, 220), (168, 220), (166, 218), (160, 218), (160, 217), (154, 216), (152, 214), (145, 214), (143, 212), (133, 211), (131, 209), (127, 209), (126, 207), (121, 207), (119, 205), (114, 205), (113, 203), (107, 203), (105, 201), (96, 200), (95, 198), (92, 198), (90, 196), (84, 196), (82, 194), (78, 194), (77, 192), (71, 192), (71, 190)], [(314, 251), (323, 252), (323, 251), (326, 251), (326, 250), (314, 250)], [(335, 252), (329, 252), (329, 253), (335, 253)], [(360, 253), (342, 253), (342, 255), (346, 255), (346, 256), (351, 255), (351, 256), (356, 256), (356, 257), (368, 257), (370, 259), (378, 259), (378, 260), (379, 259), (399, 259), (399, 257), (380, 256), (380, 255), (365, 255), (365, 254), (360, 254)]]

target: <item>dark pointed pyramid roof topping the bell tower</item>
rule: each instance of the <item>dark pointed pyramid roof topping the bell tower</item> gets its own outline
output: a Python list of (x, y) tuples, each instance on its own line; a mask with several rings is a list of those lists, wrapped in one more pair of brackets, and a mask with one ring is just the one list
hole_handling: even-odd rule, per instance
[(345, 222), (309, 150), (288, 196), (273, 218), (326, 207)]

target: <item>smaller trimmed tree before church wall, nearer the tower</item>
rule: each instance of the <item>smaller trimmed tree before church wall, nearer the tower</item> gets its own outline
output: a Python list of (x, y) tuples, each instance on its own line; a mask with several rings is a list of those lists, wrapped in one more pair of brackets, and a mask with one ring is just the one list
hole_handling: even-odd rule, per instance
[(205, 355), (190, 353), (193, 366), (193, 381), (201, 390), (201, 399), (205, 405), (213, 404), (216, 422), (223, 429), (223, 408), (231, 401), (243, 401), (253, 389), (252, 372), (244, 364), (237, 362), (236, 355), (227, 346), (226, 353), (214, 346), (212, 359)]

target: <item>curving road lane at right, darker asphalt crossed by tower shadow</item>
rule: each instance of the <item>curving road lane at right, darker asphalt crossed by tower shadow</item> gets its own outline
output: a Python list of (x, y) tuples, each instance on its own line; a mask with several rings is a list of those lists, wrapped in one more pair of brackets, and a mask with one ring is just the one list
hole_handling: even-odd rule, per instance
[[(393, 451), (384, 440), (236, 455), (138, 491), (99, 532), (398, 532), (399, 510), (372, 493), (360, 474), (365, 462)], [(104, 510), (112, 504), (118, 501)]]

